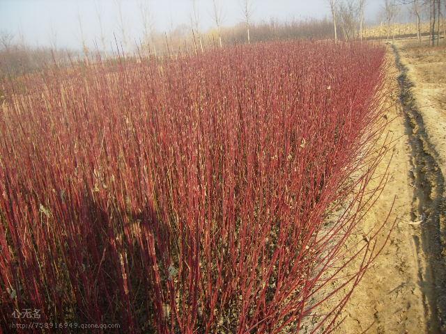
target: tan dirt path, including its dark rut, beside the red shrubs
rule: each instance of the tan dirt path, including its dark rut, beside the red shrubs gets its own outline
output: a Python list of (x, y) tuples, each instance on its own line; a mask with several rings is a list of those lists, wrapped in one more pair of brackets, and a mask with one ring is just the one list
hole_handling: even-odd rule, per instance
[(446, 56), (442, 49), (427, 58), (415, 50), (417, 63), (410, 62), (411, 51), (403, 42), (389, 50), (394, 96), (387, 117), (394, 120), (388, 131), (398, 140), (390, 181), (364, 222), (383, 221), (396, 198), (390, 218), (398, 223), (336, 333), (446, 333)]

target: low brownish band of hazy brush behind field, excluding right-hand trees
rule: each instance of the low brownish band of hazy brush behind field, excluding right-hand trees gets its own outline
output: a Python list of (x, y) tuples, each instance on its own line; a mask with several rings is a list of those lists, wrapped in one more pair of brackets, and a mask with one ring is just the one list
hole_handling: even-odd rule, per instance
[[(271, 40), (332, 38), (332, 22), (329, 19), (304, 19), (291, 22), (279, 22), (272, 19), (249, 25), (249, 42), (266, 42)], [(245, 24), (220, 30), (222, 46), (238, 45), (247, 42)], [(50, 63), (67, 63), (89, 59), (100, 54), (103, 57), (114, 57), (119, 51), (126, 54), (142, 54), (143, 56), (166, 56), (183, 53), (201, 52), (220, 45), (219, 34), (215, 30), (199, 33), (190, 26), (180, 25), (169, 33), (152, 33), (150, 38), (139, 45), (130, 45), (121, 40), (104, 50), (102, 45), (96, 49), (74, 51), (69, 49), (53, 49), (51, 47), (31, 47), (23, 42), (14, 42), (12, 35), (0, 34), (0, 71), (3, 74), (20, 74), (44, 67)]]

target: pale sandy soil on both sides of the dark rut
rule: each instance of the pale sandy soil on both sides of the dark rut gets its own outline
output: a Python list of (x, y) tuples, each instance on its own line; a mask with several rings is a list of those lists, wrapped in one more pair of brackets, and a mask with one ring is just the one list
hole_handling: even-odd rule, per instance
[[(442, 173), (438, 172), (438, 175), (446, 175), (446, 49), (418, 47), (416, 42), (414, 44), (410, 40), (399, 41), (396, 47), (400, 63), (406, 66), (407, 77), (413, 83), (413, 98), (424, 120), (426, 138), (431, 145), (426, 151), (432, 155), (436, 166), (440, 167)], [(391, 48), (389, 58), (394, 63), (395, 54)], [(446, 285), (438, 287), (438, 281), (441, 283), (444, 276), (442, 278), (437, 273), (435, 282), (433, 274), (429, 271), (432, 255), (426, 253), (430, 252), (431, 245), (426, 244), (431, 241), (429, 236), (426, 237), (428, 222), (423, 217), (424, 206), (420, 205), (422, 196), (420, 189), (417, 189), (424, 187), (424, 184), (417, 180), (417, 173), (414, 171), (417, 168), (421, 175), (425, 172), (416, 165), (414, 144), (410, 138), (412, 132), (416, 134), (420, 130), (417, 127), (408, 130), (407, 114), (403, 111), (399, 98), (399, 70), (401, 69), (393, 65), (389, 74), (393, 81), (394, 96), (388, 106), (387, 117), (394, 120), (388, 125), (387, 131), (394, 138), (398, 138), (394, 143), (390, 162), (391, 177), (364, 221), (366, 228), (383, 221), (395, 198), (390, 221), (397, 219), (397, 225), (389, 243), (376, 259), (374, 267), (367, 271), (353, 292), (341, 314), (344, 321), (339, 324), (335, 333), (417, 334), (444, 333), (445, 329), (441, 327), (442, 311), (436, 310), (436, 301), (432, 302), (430, 297), (438, 294), (438, 288), (444, 291)], [(391, 153), (387, 154), (377, 173), (384, 173)], [(435, 183), (436, 180), (431, 182)], [(444, 225), (445, 212), (438, 213), (439, 210), (445, 209), (444, 205), (442, 207), (442, 201), (444, 204), (445, 200), (444, 188), (442, 186), (438, 198), (434, 198), (434, 192), (438, 192), (436, 186), (438, 184), (433, 184), (428, 189), (429, 203), (436, 206), (432, 210), (437, 213), (435, 217), (433, 214), (430, 216), (431, 220), (436, 218), (440, 225)], [(419, 219), (419, 215), (422, 218)], [(380, 238), (384, 239), (385, 236), (384, 231)], [(445, 256), (443, 249), (443, 257), (437, 260), (444, 262)]]

